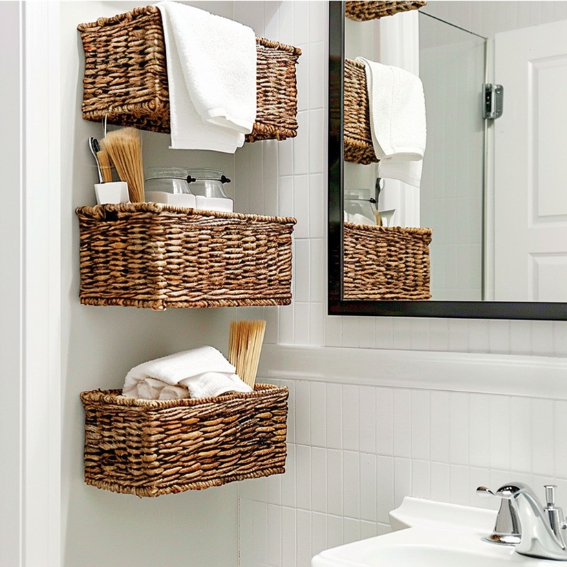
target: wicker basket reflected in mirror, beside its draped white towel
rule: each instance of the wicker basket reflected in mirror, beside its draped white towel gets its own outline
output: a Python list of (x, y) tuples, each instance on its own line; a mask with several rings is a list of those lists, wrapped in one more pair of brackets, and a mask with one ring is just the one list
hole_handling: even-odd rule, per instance
[(370, 131), (370, 103), (364, 64), (345, 59), (344, 83), (344, 159), (347, 162), (378, 162)]

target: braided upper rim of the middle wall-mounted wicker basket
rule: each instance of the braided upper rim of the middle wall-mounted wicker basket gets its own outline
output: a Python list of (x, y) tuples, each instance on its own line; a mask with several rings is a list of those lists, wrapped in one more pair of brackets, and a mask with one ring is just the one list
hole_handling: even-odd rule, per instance
[(167, 203), (118, 203), (118, 204), (102, 204), (102, 205), (83, 205), (75, 209), (76, 215), (79, 217), (93, 217), (102, 219), (106, 213), (173, 213), (186, 217), (217, 217), (221, 219), (237, 219), (237, 220), (259, 220), (279, 222), (282, 224), (297, 224), (295, 217), (277, 217), (270, 215), (256, 215), (255, 213), (228, 213), (227, 211), (205, 211), (200, 208), (187, 208), (183, 206), (175, 206)]

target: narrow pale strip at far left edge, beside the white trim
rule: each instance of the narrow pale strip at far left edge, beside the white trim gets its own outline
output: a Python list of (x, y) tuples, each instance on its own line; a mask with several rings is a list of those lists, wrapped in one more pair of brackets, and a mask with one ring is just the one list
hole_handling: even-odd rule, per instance
[[(15, 565), (20, 555), (21, 526), (21, 169), (20, 169), (20, 79), (21, 54), (19, 45), (20, 13), (16, 2), (0, 3), (0, 52), (13, 52), (12, 57), (0, 58), (0, 76), (3, 78), (3, 103), (11, 108), (6, 114), (3, 133), (0, 138), (0, 176), (10, 191), (4, 192), (6, 209), (10, 211), (3, 222), (0, 222), (0, 238), (2, 242), (10, 242), (12, 246), (0, 248), (0, 261), (3, 270), (0, 278), (1, 297), (10, 297), (1, 308), (0, 360), (2, 370), (0, 379), (5, 385), (4, 395), (0, 402), (0, 428), (6, 432), (0, 441), (3, 454), (3, 467), (0, 468), (0, 483), (10, 486), (10, 490), (0, 491), (0, 509), (10, 522), (2, 524), (0, 530), (0, 564)], [(16, 48), (14, 50), (14, 47)]]

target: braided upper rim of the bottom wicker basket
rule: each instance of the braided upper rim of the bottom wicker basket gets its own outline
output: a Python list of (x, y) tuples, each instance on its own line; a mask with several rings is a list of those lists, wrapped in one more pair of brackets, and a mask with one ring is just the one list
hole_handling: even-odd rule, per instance
[(121, 389), (96, 389), (81, 392), (81, 401), (84, 403), (103, 402), (107, 405), (122, 407), (141, 407), (145, 409), (167, 409), (170, 407), (194, 407), (211, 403), (223, 403), (231, 400), (253, 400), (254, 398), (279, 397), (289, 394), (287, 386), (256, 383), (253, 392), (227, 392), (220, 396), (208, 398), (182, 398), (180, 400), (144, 400), (142, 398), (128, 398), (122, 396)]

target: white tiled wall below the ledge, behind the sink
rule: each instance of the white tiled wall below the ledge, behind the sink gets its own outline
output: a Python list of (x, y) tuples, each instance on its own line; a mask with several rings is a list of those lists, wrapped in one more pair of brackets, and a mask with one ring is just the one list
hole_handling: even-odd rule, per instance
[[(494, 508), (476, 486), (513, 479), (539, 492), (553, 482), (567, 493), (564, 400), (301, 379), (286, 385), (295, 440), (284, 475), (241, 483), (242, 566), (309, 567), (325, 548), (388, 531), (388, 512), (407, 495)], [(301, 405), (309, 392), (334, 400), (333, 409)], [(356, 406), (356, 416), (345, 411)], [(334, 431), (325, 436), (321, 424), (328, 432), (330, 418)], [(353, 423), (363, 418), (355, 439)]]

